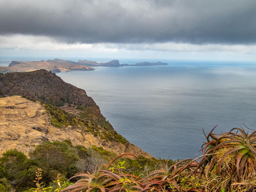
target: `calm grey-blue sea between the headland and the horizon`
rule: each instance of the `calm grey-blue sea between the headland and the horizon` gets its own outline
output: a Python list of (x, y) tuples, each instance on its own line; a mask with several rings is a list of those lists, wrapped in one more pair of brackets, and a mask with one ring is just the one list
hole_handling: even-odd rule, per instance
[(85, 89), (128, 141), (155, 157), (194, 158), (216, 133), (256, 127), (256, 65), (173, 62), (58, 73)]

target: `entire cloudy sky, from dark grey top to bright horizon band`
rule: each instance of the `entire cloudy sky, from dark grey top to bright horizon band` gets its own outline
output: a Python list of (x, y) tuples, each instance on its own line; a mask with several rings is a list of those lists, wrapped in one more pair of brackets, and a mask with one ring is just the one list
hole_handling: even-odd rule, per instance
[(0, 57), (256, 59), (256, 0), (0, 0)]

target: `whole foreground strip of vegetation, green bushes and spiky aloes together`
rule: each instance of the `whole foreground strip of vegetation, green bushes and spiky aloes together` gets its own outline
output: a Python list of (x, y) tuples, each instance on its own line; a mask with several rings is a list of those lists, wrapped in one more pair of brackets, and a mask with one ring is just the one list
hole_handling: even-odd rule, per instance
[(205, 136), (202, 156), (175, 162), (132, 154), (114, 158), (102, 147), (73, 146), (69, 141), (38, 145), (30, 159), (17, 150), (7, 151), (0, 158), (0, 191), (25, 191), (35, 185), (30, 191), (256, 191), (256, 131), (234, 128), (217, 135), (212, 130)]

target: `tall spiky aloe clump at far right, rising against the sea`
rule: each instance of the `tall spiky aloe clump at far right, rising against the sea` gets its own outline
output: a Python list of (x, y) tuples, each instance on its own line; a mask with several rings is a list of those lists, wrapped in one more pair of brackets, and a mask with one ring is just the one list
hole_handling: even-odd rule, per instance
[(231, 183), (249, 178), (255, 172), (256, 131), (249, 134), (243, 128), (233, 128), (216, 135), (213, 130), (206, 136), (203, 158), (197, 168), (203, 168), (209, 182), (213, 177), (219, 182), (226, 180), (222, 187), (231, 189)]

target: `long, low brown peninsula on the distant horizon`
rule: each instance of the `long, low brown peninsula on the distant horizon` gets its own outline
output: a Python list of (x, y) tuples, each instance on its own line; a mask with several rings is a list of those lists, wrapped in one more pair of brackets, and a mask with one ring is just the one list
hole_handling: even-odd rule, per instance
[(119, 60), (111, 60), (109, 62), (98, 63), (90, 60), (41, 60), (41, 61), (12, 61), (8, 67), (0, 66), (0, 72), (32, 72), (45, 69), (52, 72), (70, 72), (70, 71), (91, 71), (93, 67), (123, 67), (123, 66), (153, 66), (168, 65), (163, 62), (140, 62), (136, 64), (120, 64)]

